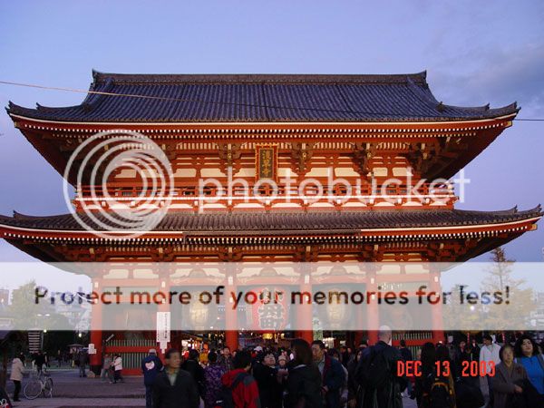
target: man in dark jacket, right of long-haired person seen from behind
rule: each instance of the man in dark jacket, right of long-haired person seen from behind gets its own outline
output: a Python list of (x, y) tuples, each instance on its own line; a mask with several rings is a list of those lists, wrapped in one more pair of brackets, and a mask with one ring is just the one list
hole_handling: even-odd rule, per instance
[(342, 364), (326, 355), (325, 343), (321, 340), (312, 343), (312, 355), (314, 363), (321, 373), (325, 407), (340, 408), (340, 391), (345, 384), (345, 372)]

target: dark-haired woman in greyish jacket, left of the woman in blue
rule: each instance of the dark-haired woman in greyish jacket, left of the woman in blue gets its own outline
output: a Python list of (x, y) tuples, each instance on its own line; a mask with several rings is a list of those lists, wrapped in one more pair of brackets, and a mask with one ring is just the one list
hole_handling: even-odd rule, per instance
[(516, 382), (527, 378), (523, 365), (514, 362), (514, 350), (508, 343), (500, 347), (500, 364), (495, 367), (495, 375), (491, 377), (494, 393), (494, 408), (509, 408), (513, 404), (515, 394), (523, 393)]

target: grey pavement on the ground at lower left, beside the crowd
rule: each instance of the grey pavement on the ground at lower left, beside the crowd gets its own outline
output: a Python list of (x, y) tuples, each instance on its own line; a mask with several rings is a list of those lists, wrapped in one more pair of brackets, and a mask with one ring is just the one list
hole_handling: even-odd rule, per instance
[[(21, 392), (21, 401), (15, 407), (35, 408), (94, 408), (112, 407), (124, 408), (145, 406), (145, 387), (142, 377), (125, 377), (124, 383), (109, 384), (100, 378), (80, 378), (79, 372), (70, 370), (51, 370), (53, 379), (53, 398), (40, 396), (35, 400), (24, 399)], [(23, 386), (28, 381), (24, 378)], [(13, 395), (13, 382), (7, 383), (7, 392)], [(403, 399), (403, 408), (416, 408), (416, 403), (409, 398)]]

